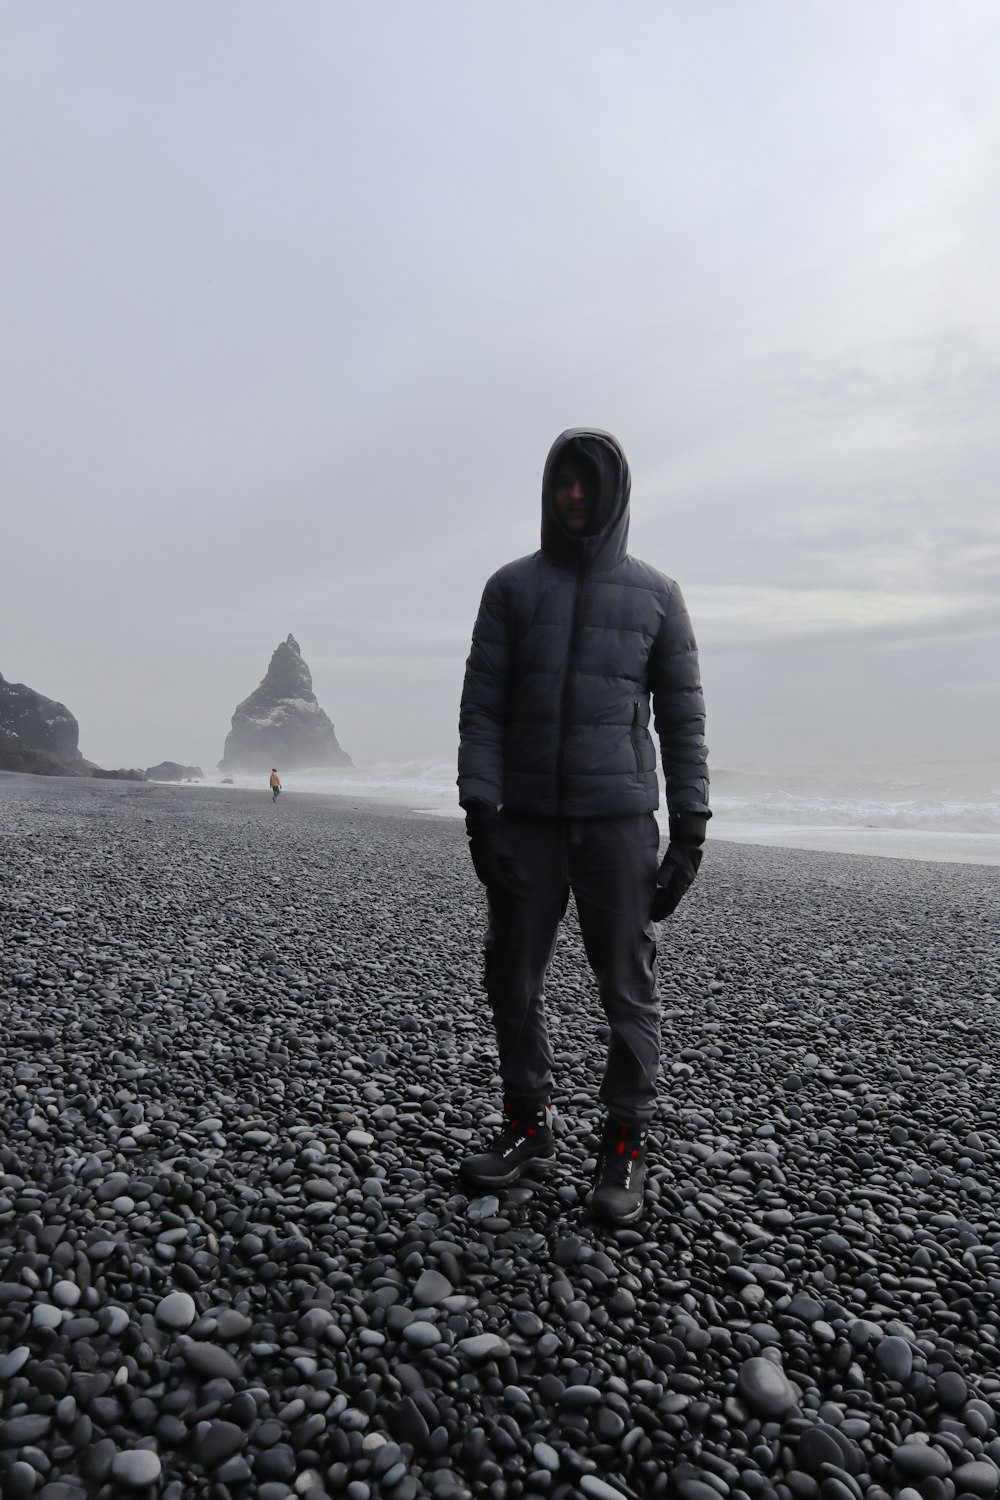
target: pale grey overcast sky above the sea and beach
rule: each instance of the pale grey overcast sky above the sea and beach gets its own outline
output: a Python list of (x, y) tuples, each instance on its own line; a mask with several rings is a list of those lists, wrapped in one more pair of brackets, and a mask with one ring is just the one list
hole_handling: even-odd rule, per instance
[(454, 753), (618, 434), (717, 764), (1000, 752), (996, 0), (0, 3), (0, 672), (222, 754), (297, 636)]

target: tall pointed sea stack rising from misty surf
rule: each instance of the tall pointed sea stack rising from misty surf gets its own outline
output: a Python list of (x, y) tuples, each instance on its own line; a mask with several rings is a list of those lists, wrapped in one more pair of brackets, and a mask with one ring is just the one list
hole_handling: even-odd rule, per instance
[(220, 771), (303, 771), (352, 765), (316, 702), (312, 674), (292, 634), (277, 646), (261, 686), (232, 716)]

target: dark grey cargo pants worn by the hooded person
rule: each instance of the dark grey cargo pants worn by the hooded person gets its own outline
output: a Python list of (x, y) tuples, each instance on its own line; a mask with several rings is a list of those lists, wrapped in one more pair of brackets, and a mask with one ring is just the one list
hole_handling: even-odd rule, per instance
[(552, 1095), (544, 976), (573, 891), (612, 1029), (600, 1096), (616, 1119), (648, 1120), (660, 1065), (657, 930), (649, 918), (657, 820), (652, 813), (573, 819), (505, 813), (504, 826), (532, 886), (523, 900), (489, 892), (486, 992), (504, 1092), (534, 1102)]

